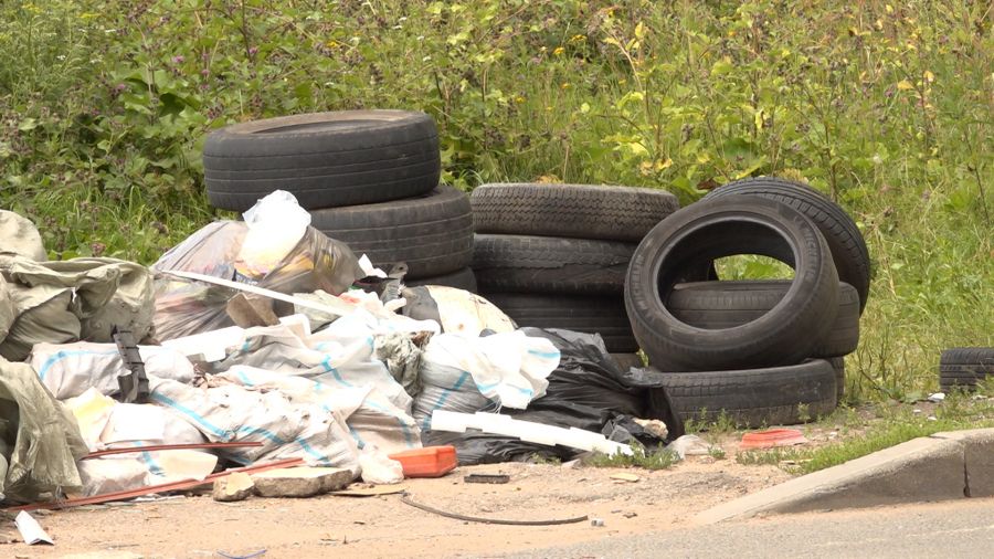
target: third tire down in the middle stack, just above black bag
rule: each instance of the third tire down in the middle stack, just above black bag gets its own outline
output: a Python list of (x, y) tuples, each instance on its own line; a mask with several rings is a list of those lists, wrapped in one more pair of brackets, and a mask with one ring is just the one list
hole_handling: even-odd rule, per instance
[(638, 342), (621, 297), (485, 293), (519, 327), (561, 328), (600, 334), (607, 351), (633, 354)]

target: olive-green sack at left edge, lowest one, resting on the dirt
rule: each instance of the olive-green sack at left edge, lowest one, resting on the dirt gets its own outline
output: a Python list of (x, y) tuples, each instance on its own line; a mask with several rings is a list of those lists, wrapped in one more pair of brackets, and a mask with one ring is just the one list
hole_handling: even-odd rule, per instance
[(0, 455), (8, 458), (0, 494), (33, 502), (41, 493), (78, 487), (76, 460), (86, 452), (72, 413), (31, 366), (0, 358)]

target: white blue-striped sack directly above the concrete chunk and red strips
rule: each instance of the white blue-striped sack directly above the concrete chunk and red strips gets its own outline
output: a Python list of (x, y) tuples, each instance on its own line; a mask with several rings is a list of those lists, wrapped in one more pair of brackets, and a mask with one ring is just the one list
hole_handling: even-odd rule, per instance
[(293, 403), (278, 390), (255, 390), (211, 379), (207, 387), (149, 378), (151, 400), (197, 428), (211, 442), (251, 441), (262, 446), (219, 452), (239, 464), (290, 457), (359, 474), (359, 450), (340, 413)]

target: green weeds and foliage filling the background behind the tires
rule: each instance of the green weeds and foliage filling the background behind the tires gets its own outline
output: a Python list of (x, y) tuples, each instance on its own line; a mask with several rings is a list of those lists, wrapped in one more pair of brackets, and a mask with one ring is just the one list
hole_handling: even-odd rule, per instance
[(52, 257), (154, 262), (220, 215), (204, 135), (360, 107), (438, 122), (444, 179), (805, 180), (874, 259), (849, 398), (994, 345), (994, 34), (971, 0), (0, 3), (0, 205)]

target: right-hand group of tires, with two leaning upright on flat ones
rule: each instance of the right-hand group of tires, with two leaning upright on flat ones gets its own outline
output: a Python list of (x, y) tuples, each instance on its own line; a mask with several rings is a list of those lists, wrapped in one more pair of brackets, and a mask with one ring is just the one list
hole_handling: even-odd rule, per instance
[[(789, 281), (716, 281), (717, 259), (759, 254)], [(869, 256), (853, 220), (814, 189), (737, 181), (660, 222), (632, 257), (625, 304), (677, 411), (740, 425), (831, 412), (859, 341)]]

